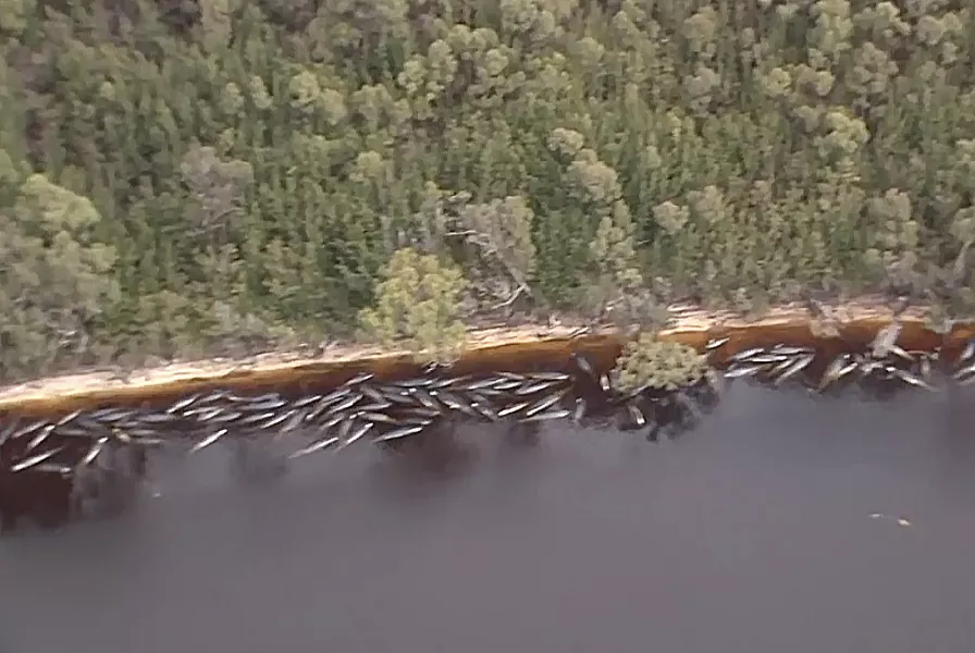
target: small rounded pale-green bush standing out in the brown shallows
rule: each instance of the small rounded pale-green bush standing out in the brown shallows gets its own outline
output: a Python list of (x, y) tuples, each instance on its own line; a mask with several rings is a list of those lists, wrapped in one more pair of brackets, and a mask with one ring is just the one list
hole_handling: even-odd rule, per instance
[(693, 347), (658, 340), (647, 331), (627, 343), (614, 370), (616, 386), (624, 392), (647, 385), (677, 390), (700, 381), (706, 371), (706, 358)]

